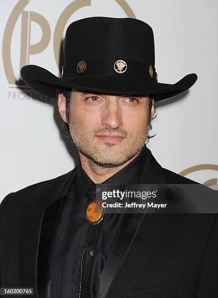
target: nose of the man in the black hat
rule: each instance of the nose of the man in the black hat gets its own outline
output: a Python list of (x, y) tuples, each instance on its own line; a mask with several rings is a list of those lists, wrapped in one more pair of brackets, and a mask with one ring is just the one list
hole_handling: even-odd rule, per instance
[(123, 124), (121, 106), (116, 97), (108, 99), (102, 108), (101, 124), (112, 129)]

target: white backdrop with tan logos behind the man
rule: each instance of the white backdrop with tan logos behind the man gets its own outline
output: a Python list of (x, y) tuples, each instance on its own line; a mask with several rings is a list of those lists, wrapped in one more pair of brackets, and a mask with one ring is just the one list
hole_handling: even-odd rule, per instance
[(164, 168), (217, 187), (217, 0), (10, 0), (1, 6), (0, 201), (77, 163), (77, 150), (60, 130), (53, 102), (16, 80), (25, 64), (60, 75), (55, 55), (67, 26), (91, 16), (135, 17), (150, 24), (159, 82), (198, 75), (189, 92), (157, 105), (151, 130), (157, 135), (147, 146)]

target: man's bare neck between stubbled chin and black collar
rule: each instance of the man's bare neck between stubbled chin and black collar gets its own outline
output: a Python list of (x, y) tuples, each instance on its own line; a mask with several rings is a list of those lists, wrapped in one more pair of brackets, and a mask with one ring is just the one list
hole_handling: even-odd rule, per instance
[(120, 171), (122, 168), (125, 168), (138, 156), (139, 153), (137, 153), (134, 157), (132, 157), (130, 160), (128, 160), (125, 164), (121, 166), (118, 166), (115, 168), (104, 168), (95, 164), (93, 161), (91, 161), (86, 156), (84, 156), (81, 152), (79, 152), (81, 166), (83, 170), (88, 175), (88, 177), (96, 184), (101, 184), (102, 182), (104, 182), (105, 180), (109, 179), (111, 176), (116, 174), (118, 171)]

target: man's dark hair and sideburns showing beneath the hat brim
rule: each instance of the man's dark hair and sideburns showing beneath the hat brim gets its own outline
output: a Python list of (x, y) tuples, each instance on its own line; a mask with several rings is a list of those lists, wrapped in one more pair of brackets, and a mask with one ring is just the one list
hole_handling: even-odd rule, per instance
[[(61, 93), (64, 95), (64, 97), (66, 98), (66, 118), (67, 118), (67, 123), (61, 118), (60, 114), (59, 114), (59, 118), (60, 118), (60, 121), (62, 122), (62, 125), (63, 125), (63, 128), (66, 132), (69, 133), (70, 135), (70, 132), (69, 132), (69, 121), (70, 121), (70, 109), (69, 109), (69, 105), (70, 105), (70, 95), (71, 95), (71, 92), (73, 91), (78, 91), (76, 89), (61, 89), (61, 88), (56, 88), (55, 89), (55, 92), (56, 92), (56, 100), (58, 99), (58, 94)], [(156, 134), (154, 135), (149, 135), (149, 131), (152, 129), (152, 126), (151, 126), (151, 121), (156, 118), (157, 116), (157, 113), (156, 113), (156, 109), (154, 107), (154, 115), (153, 117), (151, 117), (151, 107), (152, 107), (152, 99), (154, 98), (155, 99), (158, 99), (158, 96), (157, 95), (152, 95), (150, 94), (149, 95), (149, 118), (148, 118), (148, 128), (147, 128), (147, 133), (148, 133), (148, 136), (147, 136), (147, 140), (146, 140), (146, 143), (148, 143), (150, 141), (151, 138), (153, 138)]]

